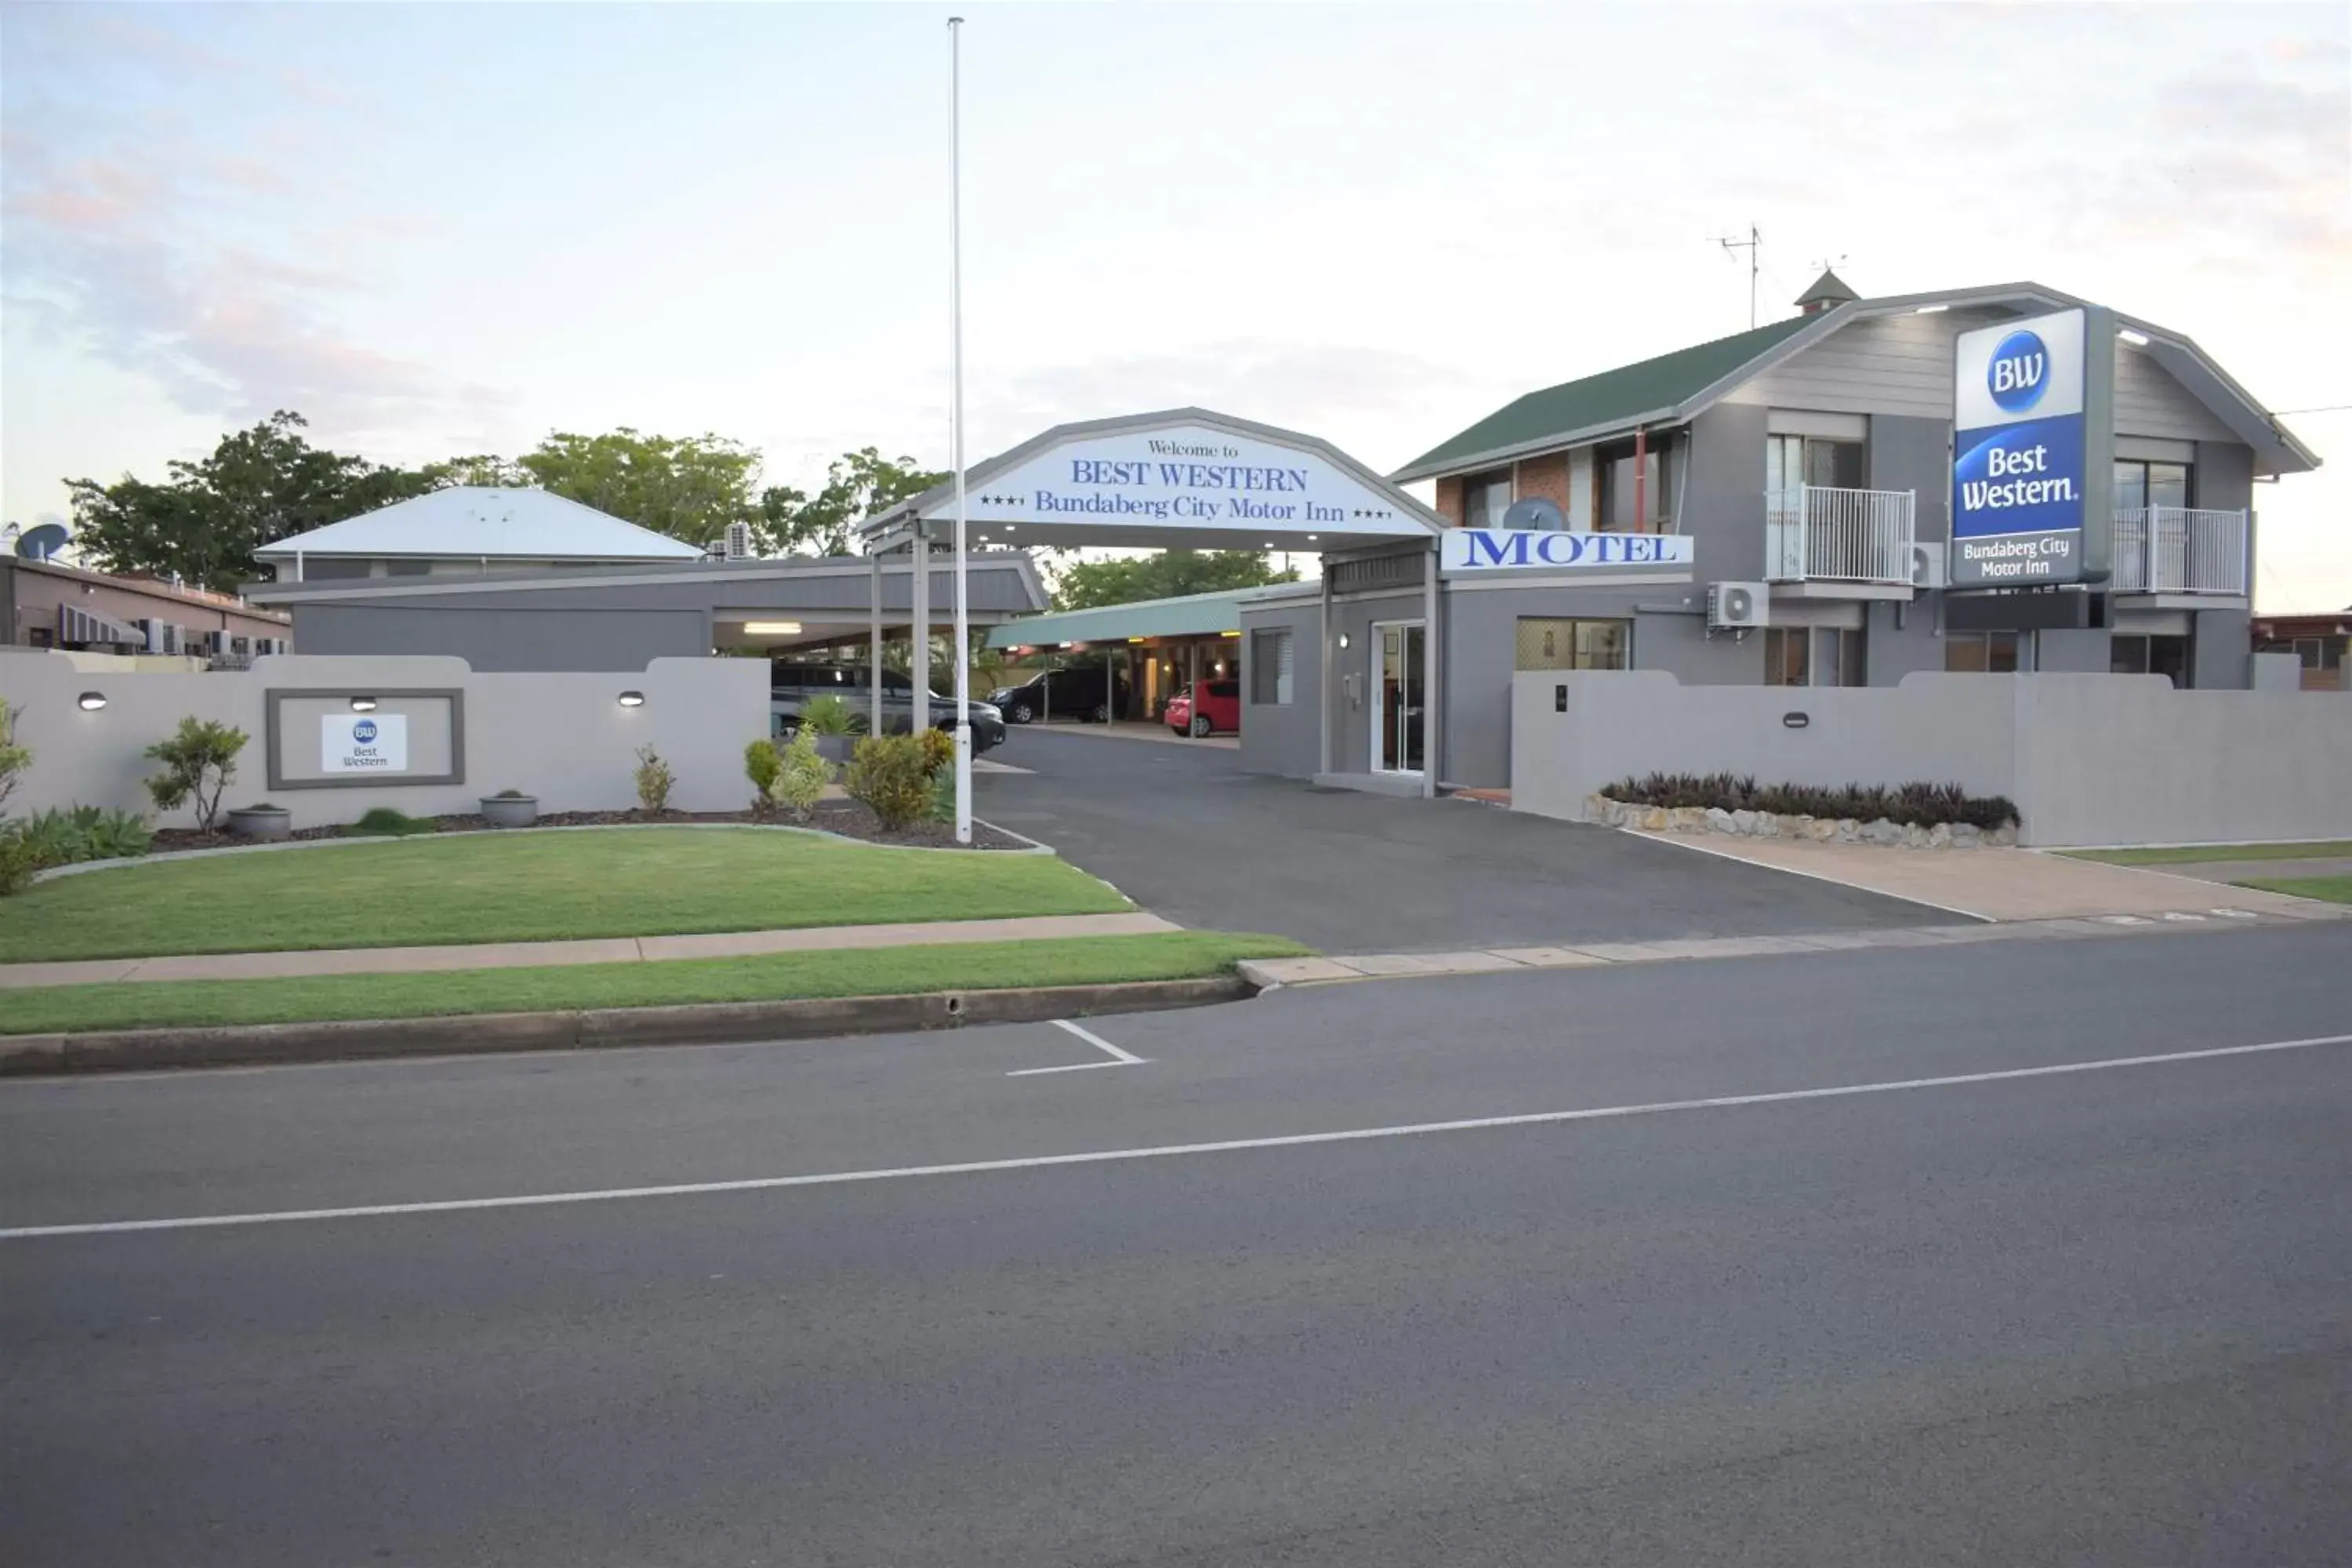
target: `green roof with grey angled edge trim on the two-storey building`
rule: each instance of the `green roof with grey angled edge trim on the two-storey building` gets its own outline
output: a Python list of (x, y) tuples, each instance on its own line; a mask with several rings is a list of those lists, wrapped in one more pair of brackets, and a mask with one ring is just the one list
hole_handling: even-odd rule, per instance
[[(1823, 282), (1835, 282), (1825, 277)], [(1851, 299), (1813, 315), (1771, 322), (1729, 339), (1679, 348), (1656, 360), (1566, 381), (1529, 393), (1461, 435), (1421, 454), (1390, 480), (1409, 484), (1437, 475), (1470, 473), (1494, 463), (1581, 447), (1592, 440), (1630, 435), (1635, 425), (1682, 423), (1717, 402), (1740, 383), (1804, 353), (1813, 343), (1858, 320), (1905, 315), (1915, 310), (1994, 308), (2016, 315), (2067, 310), (2089, 301), (2039, 282), (2004, 282), (1980, 289), (1945, 289), (1938, 294), (1898, 294), (1889, 299)], [(2246, 388), (2213, 362), (2185, 334), (2114, 313), (2114, 324), (2143, 339), (2136, 346), (2190, 390), (2218, 421), (2253, 447), (2258, 475), (2307, 473), (2319, 458), (2286, 430)]]

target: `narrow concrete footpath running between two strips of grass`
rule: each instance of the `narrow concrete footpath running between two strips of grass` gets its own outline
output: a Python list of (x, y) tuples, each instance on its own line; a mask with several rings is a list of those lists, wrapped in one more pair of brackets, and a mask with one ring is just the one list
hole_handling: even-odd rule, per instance
[(308, 952), (191, 952), (160, 959), (0, 964), (0, 990), (24, 985), (113, 985), (120, 980), (282, 980), (289, 976), (381, 976), (437, 969), (555, 969), (572, 964), (656, 964), (743, 959), (764, 952), (844, 947), (936, 947), (1068, 936), (1152, 936), (1183, 931), (1157, 914), (1030, 914), (941, 919), (889, 926), (807, 926), (800, 931), (713, 931), (703, 936), (612, 936), (576, 943), (459, 943), (449, 947), (320, 947)]

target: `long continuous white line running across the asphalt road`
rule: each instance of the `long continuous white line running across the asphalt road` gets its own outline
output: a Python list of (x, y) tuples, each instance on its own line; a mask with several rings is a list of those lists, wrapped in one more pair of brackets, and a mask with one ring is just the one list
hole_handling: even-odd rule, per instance
[(2077, 1072), (2114, 1072), (2119, 1067), (2164, 1067), (2171, 1063), (2211, 1063), (2230, 1056), (2267, 1056), (2274, 1051), (2310, 1051), (2352, 1044), (2352, 1034), (2317, 1034), (2312, 1039), (2272, 1039), (2258, 1046), (2209, 1046), (2204, 1051), (2164, 1051), (2161, 1056), (2110, 1056), (2093, 1063), (2056, 1063), (2049, 1067), (2004, 1067), (1997, 1072), (1955, 1072), (1936, 1079), (1889, 1079), (1879, 1084), (1835, 1084), (1830, 1088), (1780, 1088), (1752, 1095), (1708, 1095), (1700, 1100), (1651, 1100), (1646, 1105), (1597, 1105), (1590, 1110), (1545, 1110), (1519, 1117), (1468, 1117), (1463, 1121), (1409, 1121), (1404, 1126), (1359, 1126), (1338, 1133), (1287, 1133), (1277, 1138), (1225, 1138), (1218, 1143), (1162, 1143), (1138, 1150), (1089, 1150), (1084, 1154), (1023, 1154), (1016, 1159), (967, 1159), (948, 1166), (896, 1166), (882, 1171), (826, 1171), (814, 1175), (757, 1175), (734, 1182), (675, 1182), (668, 1187), (604, 1187), (597, 1192), (534, 1192), (494, 1199), (442, 1199), (433, 1204), (362, 1204), (353, 1208), (280, 1208), (273, 1213), (207, 1213), (176, 1220), (99, 1220), (87, 1225), (16, 1225), (0, 1229), (0, 1241), (38, 1237), (111, 1237), (136, 1229), (219, 1229), (226, 1225), (292, 1225), (296, 1220), (379, 1220), (419, 1213), (470, 1213), (477, 1208), (555, 1208), (562, 1204), (616, 1204), (623, 1199), (703, 1197), (715, 1192), (776, 1192), (783, 1187), (847, 1187), (854, 1182), (889, 1182), (922, 1175), (983, 1175), (993, 1171), (1044, 1171), (1051, 1166), (1105, 1166), (1134, 1159), (1171, 1159), (1178, 1154), (1249, 1154), (1258, 1150), (1301, 1150), (1319, 1143), (1371, 1143), (1378, 1138), (1421, 1138), (1428, 1133), (1484, 1133), (1503, 1126), (1552, 1126), (1564, 1121), (1616, 1121), (1625, 1117), (1663, 1117), (1686, 1110), (1736, 1110), (1743, 1105), (1792, 1105), (1797, 1100), (1844, 1100), (1912, 1088), (1962, 1088), (1966, 1084), (2011, 1084)]

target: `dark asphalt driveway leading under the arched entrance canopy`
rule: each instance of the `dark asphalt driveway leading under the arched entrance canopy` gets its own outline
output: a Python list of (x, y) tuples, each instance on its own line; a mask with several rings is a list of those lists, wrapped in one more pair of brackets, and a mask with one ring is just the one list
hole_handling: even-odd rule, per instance
[(1221, 748), (1014, 729), (978, 813), (1185, 926), (1444, 952), (1957, 922), (1900, 898), (1463, 799), (1244, 773)]

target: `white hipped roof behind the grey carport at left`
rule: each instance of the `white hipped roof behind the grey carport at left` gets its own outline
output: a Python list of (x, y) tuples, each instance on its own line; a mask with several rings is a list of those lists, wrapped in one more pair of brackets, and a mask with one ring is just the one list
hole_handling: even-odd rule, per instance
[(325, 529), (278, 538), (254, 555), (266, 562), (294, 555), (430, 555), (520, 557), (579, 562), (699, 559), (696, 545), (640, 529), (612, 512), (543, 489), (459, 484), (414, 501), (395, 501)]

